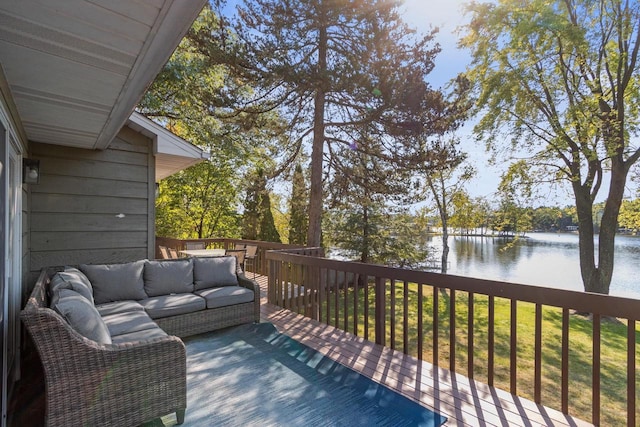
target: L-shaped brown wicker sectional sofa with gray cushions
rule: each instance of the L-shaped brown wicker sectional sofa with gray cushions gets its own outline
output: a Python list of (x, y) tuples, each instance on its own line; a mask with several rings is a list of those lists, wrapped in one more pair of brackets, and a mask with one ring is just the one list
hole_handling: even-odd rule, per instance
[(43, 269), (21, 318), (45, 373), (49, 426), (134, 426), (186, 409), (180, 337), (259, 322), (235, 257)]

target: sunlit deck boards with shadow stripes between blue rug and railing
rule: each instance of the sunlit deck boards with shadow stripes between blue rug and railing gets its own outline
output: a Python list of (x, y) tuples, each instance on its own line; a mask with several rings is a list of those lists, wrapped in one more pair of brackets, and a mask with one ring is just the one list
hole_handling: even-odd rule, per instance
[(273, 323), (280, 332), (445, 415), (448, 418), (446, 426), (592, 425), (268, 304), (267, 278), (258, 276), (256, 280), (262, 290), (263, 321)]

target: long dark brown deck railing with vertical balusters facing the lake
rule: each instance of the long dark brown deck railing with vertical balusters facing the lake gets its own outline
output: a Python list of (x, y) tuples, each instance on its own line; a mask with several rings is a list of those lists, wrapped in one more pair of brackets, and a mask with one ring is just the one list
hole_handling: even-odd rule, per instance
[[(549, 356), (549, 350), (545, 351), (542, 344), (543, 320), (549, 316), (561, 319), (558, 321), (561, 330), (557, 331), (557, 359), (560, 366), (555, 366), (557, 363), (554, 365), (560, 370), (560, 402), (559, 405), (554, 404), (559, 406), (556, 409), (567, 414), (571, 406), (569, 361), (575, 352), (584, 351), (572, 347), (571, 312), (590, 313), (590, 409), (592, 422), (596, 425), (600, 425), (603, 418), (600, 413), (603, 397), (602, 354), (609, 339), (603, 336), (606, 332), (603, 320), (626, 320), (626, 422), (629, 426), (635, 425), (636, 322), (640, 320), (640, 300), (333, 260), (323, 258), (319, 251), (317, 253), (313, 255), (291, 249), (266, 253), (269, 266), (268, 300), (271, 304), (362, 335), (365, 339), (371, 338), (376, 343), (400, 347), (399, 350), (419, 359), (423, 359), (425, 353), (431, 353), (434, 365), (439, 365), (441, 358), (448, 358), (445, 361), (448, 361), (451, 371), (464, 373), (469, 378), (474, 378), (477, 365), (482, 365), (486, 368), (487, 383), (491, 386), (497, 381), (498, 370), (508, 369), (506, 388), (513, 394), (519, 391), (518, 359), (519, 352), (523, 351), (518, 346), (518, 332), (522, 326), (519, 325), (519, 317), (529, 310), (527, 305), (533, 305), (530, 309), (533, 312), (534, 349), (530, 356), (533, 360), (533, 385), (522, 394), (530, 396), (536, 403), (542, 403), (543, 397), (543, 362), (546, 360), (543, 355)], [(486, 304), (487, 311), (486, 366), (484, 358), (482, 361), (474, 358), (474, 355), (478, 356), (476, 347), (480, 344), (474, 329), (477, 328), (481, 304)], [(496, 324), (498, 309), (509, 313), (508, 325)], [(410, 310), (414, 311), (413, 316), (417, 319), (408, 318)], [(460, 322), (458, 318), (464, 318), (465, 313), (466, 322), (456, 325), (456, 322)], [(417, 349), (412, 349), (410, 345), (409, 329), (414, 321), (417, 324)], [(466, 348), (461, 345), (460, 336), (467, 338)], [(398, 342), (402, 345), (398, 345)], [(508, 346), (508, 361), (504, 362), (508, 366), (499, 366), (502, 362), (496, 351), (498, 345)], [(448, 347), (448, 354), (443, 354), (446, 353), (445, 347)], [(466, 354), (457, 354), (456, 349), (460, 353), (466, 351)], [(466, 358), (466, 366), (458, 366), (459, 358)], [(544, 367), (548, 365), (544, 364)], [(572, 365), (571, 368), (576, 367)], [(621, 367), (616, 366), (616, 369)], [(623, 384), (618, 385), (623, 387)], [(608, 395), (604, 397), (611, 398)], [(579, 414), (584, 416), (583, 411), (587, 408), (571, 409), (580, 411)], [(604, 414), (605, 423), (611, 423), (610, 416), (609, 413)], [(616, 424), (619, 424), (619, 420)]]

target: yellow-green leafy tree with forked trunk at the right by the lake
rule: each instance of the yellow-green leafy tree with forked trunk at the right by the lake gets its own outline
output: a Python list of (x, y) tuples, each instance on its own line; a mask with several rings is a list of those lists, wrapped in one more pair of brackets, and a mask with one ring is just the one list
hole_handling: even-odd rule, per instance
[[(469, 10), (461, 44), (473, 52), (468, 77), (486, 113), (476, 132), (506, 157), (526, 157), (537, 182), (571, 186), (582, 281), (607, 294), (625, 184), (640, 157), (630, 143), (639, 130), (640, 4), (498, 0)], [(505, 134), (511, 145), (501, 143)], [(596, 249), (592, 208), (601, 191)]]

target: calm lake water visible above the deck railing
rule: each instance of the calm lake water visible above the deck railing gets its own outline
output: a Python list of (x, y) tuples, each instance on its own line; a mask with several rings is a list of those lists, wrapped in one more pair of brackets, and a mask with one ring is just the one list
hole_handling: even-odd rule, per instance
[[(597, 243), (597, 240), (596, 240)], [(440, 259), (442, 239), (429, 239)], [(513, 247), (490, 237), (449, 238), (449, 274), (583, 291), (578, 235), (529, 233)], [(616, 236), (611, 295), (640, 299), (640, 237)]]

